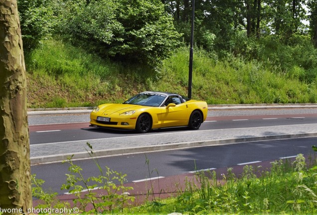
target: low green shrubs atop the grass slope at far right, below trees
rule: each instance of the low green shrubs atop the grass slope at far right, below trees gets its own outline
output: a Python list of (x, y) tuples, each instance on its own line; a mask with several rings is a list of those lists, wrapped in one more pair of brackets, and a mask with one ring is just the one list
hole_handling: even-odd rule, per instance
[(278, 35), (256, 40), (241, 31), (233, 37), (232, 52), (247, 60), (258, 60), (277, 74), (287, 74), (305, 83), (314, 83), (317, 77), (317, 49), (308, 35), (292, 34), (286, 41)]

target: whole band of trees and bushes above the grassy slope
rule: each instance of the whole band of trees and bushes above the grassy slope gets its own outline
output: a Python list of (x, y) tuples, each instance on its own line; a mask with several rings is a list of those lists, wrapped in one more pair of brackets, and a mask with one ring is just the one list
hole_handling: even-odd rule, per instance
[[(26, 49), (59, 35), (103, 58), (152, 68), (176, 46), (188, 44), (191, 4), (189, 0), (18, 0)], [(307, 21), (309, 25), (304, 24)], [(316, 58), (308, 54), (316, 53), (312, 46), (317, 46), (314, 0), (196, 0), (194, 32), (197, 46), (221, 58), (234, 53), (248, 60), (271, 59), (283, 72), (303, 69), (302, 81), (311, 83), (316, 77)]]

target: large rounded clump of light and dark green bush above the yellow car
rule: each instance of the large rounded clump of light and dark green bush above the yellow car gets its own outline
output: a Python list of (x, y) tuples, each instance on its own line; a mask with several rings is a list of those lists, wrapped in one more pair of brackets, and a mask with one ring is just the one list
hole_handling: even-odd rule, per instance
[(59, 6), (59, 33), (104, 57), (154, 67), (180, 43), (159, 0), (63, 0)]

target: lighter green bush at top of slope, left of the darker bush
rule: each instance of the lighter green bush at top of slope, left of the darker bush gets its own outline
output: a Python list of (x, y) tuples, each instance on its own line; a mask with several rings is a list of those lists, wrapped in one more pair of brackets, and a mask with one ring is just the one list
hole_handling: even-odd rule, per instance
[(58, 33), (76, 46), (105, 53), (104, 46), (113, 42), (114, 30), (124, 30), (116, 21), (118, 4), (112, 0), (62, 0), (58, 4), (60, 25)]

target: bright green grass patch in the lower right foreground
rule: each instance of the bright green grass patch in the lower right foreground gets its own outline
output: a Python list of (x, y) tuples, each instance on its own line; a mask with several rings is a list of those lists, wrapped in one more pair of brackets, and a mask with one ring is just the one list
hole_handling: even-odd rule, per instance
[[(312, 164), (312, 163), (311, 163)], [(222, 180), (219, 180), (219, 178)], [(244, 166), (241, 177), (228, 168), (221, 177), (199, 173), (176, 198), (126, 209), (130, 214), (316, 214), (317, 166), (305, 158), (272, 162), (271, 169)], [(220, 183), (221, 182), (221, 183)]]

